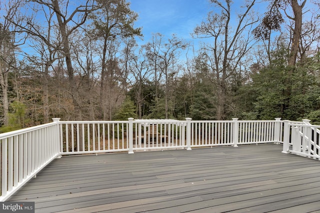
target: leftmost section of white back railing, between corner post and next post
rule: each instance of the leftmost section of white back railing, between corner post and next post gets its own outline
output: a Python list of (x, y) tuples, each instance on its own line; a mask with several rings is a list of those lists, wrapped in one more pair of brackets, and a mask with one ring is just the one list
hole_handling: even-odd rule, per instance
[(61, 155), (128, 151), (128, 121), (61, 121)]

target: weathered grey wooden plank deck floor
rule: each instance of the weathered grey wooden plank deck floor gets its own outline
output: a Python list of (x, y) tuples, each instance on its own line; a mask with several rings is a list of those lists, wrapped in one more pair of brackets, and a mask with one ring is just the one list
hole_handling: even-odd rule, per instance
[(35, 212), (320, 212), (320, 162), (275, 144), (65, 156), (8, 201)]

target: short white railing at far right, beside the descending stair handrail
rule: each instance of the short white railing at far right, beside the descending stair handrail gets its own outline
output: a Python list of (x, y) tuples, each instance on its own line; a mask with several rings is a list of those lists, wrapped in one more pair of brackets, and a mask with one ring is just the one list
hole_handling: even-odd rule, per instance
[(320, 126), (309, 122), (284, 121), (283, 153), (320, 160)]

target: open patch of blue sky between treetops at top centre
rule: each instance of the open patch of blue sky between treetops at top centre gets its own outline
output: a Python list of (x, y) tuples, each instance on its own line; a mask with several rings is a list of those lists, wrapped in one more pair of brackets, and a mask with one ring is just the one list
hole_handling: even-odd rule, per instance
[(143, 43), (156, 32), (166, 38), (175, 33), (189, 40), (194, 27), (212, 10), (208, 0), (130, 0), (130, 3), (131, 10), (139, 16), (135, 26), (142, 26)]

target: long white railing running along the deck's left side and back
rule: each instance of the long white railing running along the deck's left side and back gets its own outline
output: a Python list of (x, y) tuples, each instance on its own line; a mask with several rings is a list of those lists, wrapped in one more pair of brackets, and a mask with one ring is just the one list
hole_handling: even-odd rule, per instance
[[(60, 155), (282, 142), (282, 125), (279, 118), (274, 121), (238, 121), (237, 118), (232, 121), (191, 121), (190, 118), (59, 121), (55, 118), (49, 124), (0, 134), (0, 201), (5, 201)], [(304, 132), (299, 134), (303, 136)], [(315, 132), (318, 139), (319, 132)], [(318, 142), (312, 145), (318, 149)], [(314, 152), (318, 153), (310, 151), (310, 154)]]

